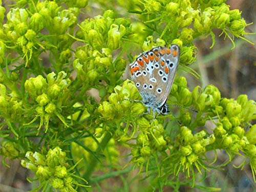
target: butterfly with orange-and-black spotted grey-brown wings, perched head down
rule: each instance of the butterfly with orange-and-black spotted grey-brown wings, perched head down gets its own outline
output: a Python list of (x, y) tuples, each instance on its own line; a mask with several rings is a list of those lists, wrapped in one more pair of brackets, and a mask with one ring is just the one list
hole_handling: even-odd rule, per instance
[(159, 46), (143, 52), (130, 64), (131, 78), (142, 97), (141, 102), (147, 106), (147, 113), (144, 114), (149, 114), (152, 109), (153, 120), (159, 114), (170, 112), (166, 101), (173, 86), (179, 59), (180, 47), (172, 44), (169, 48)]

